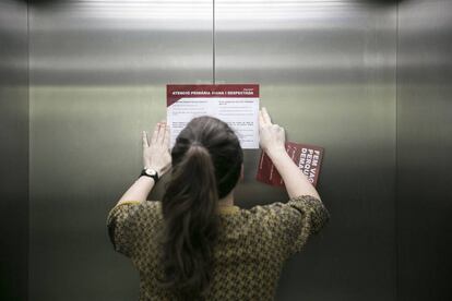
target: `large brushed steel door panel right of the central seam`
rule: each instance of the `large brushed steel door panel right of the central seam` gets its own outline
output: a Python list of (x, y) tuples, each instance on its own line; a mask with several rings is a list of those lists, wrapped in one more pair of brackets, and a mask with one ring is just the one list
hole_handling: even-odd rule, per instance
[[(285, 267), (276, 300), (395, 300), (396, 5), (215, 1), (217, 83), (259, 83), (288, 140), (325, 147), (328, 227)], [(237, 201), (287, 200), (253, 181)]]

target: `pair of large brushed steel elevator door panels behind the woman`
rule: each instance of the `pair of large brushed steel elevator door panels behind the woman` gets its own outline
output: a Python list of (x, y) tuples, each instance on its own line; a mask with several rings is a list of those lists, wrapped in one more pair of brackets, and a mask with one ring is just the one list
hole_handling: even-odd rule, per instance
[[(290, 141), (325, 147), (332, 220), (277, 300), (394, 300), (396, 8), (376, 1), (46, 1), (29, 8), (33, 300), (133, 300), (105, 217), (134, 181), (166, 83), (253, 82)], [(214, 34), (214, 35), (213, 35)], [(215, 62), (213, 62), (213, 37)], [(285, 201), (254, 181), (243, 207)], [(162, 190), (153, 194), (158, 198)]]

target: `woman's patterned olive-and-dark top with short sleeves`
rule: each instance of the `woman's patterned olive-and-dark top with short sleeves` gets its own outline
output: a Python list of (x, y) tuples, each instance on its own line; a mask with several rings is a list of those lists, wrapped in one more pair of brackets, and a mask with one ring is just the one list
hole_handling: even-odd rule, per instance
[[(130, 257), (140, 273), (140, 300), (174, 300), (158, 286), (160, 202), (127, 202), (115, 206), (107, 227), (115, 250)], [(242, 209), (219, 209), (221, 232), (207, 300), (273, 300), (284, 262), (299, 252), (330, 215), (320, 200), (299, 196)]]

